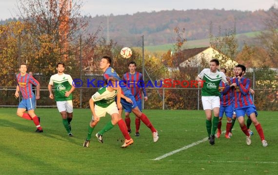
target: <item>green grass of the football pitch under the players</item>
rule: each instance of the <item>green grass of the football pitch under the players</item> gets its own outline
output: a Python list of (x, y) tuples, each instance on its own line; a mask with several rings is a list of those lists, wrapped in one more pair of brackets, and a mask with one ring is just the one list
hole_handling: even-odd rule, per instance
[[(67, 136), (57, 109), (36, 109), (43, 133), (34, 133), (32, 121), (15, 115), (16, 108), (0, 108), (0, 174), (1, 175), (277, 175), (278, 112), (259, 111), (268, 147), (262, 147), (254, 131), (252, 144), (235, 124), (234, 136), (222, 135), (215, 145), (208, 141), (160, 160), (164, 154), (204, 139), (203, 111), (144, 110), (159, 131), (154, 143), (150, 130), (141, 123), (140, 137), (121, 149), (123, 139), (116, 126), (104, 134), (101, 144), (93, 137), (90, 147), (82, 147), (91, 119), (89, 109), (75, 109), (72, 121), (74, 137)], [(94, 133), (110, 120), (101, 118)], [(225, 120), (223, 120), (225, 121)], [(222, 129), (225, 130), (225, 122)]]

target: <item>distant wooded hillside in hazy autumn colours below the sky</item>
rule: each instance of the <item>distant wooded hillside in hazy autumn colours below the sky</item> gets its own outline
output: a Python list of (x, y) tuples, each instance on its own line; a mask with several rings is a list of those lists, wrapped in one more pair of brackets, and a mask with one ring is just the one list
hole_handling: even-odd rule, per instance
[[(96, 16), (90, 19), (89, 31), (97, 31), (109, 39), (125, 46), (140, 46), (141, 36), (144, 35), (146, 46), (174, 43), (174, 28), (185, 28), (188, 40), (209, 37), (210, 24), (213, 34), (225, 33), (225, 29), (236, 27), (237, 34), (264, 30), (264, 19), (269, 11), (258, 10), (186, 10), (160, 11), (152, 13), (136, 13), (134, 15)], [(108, 22), (109, 21), (109, 22)], [(109, 23), (109, 25), (107, 25)]]

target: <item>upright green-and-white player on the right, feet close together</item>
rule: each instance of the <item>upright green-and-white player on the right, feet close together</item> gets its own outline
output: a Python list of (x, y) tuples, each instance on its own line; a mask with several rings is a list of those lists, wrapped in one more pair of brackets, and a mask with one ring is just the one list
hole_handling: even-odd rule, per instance
[[(206, 114), (206, 128), (210, 144), (215, 143), (215, 132), (219, 121), (220, 92), (218, 91), (221, 81), (228, 83), (226, 75), (218, 71), (218, 59), (210, 60), (210, 69), (202, 70), (196, 77), (199, 87), (202, 88), (202, 105)], [(230, 81), (230, 79), (228, 79)], [(212, 111), (214, 114), (212, 120)]]

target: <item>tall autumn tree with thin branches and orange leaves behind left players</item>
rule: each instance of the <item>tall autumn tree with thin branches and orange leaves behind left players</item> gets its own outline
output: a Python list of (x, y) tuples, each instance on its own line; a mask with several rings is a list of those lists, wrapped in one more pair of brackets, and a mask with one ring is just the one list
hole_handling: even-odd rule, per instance
[[(25, 33), (34, 44), (31, 54), (22, 54), (30, 59), (33, 71), (52, 74), (59, 61), (76, 67), (74, 51), (79, 45), (74, 44), (87, 26), (80, 16), (81, 5), (79, 0), (19, 0), (18, 16), (29, 26)], [(22, 45), (26, 46), (24, 41)]]

